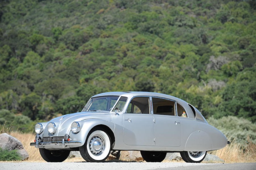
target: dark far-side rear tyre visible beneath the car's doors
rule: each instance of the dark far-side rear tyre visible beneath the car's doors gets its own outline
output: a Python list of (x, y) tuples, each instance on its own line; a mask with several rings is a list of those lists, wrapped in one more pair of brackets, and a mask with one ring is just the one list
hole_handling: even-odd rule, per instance
[(162, 162), (166, 156), (166, 152), (157, 151), (140, 151), (140, 154), (146, 162)]

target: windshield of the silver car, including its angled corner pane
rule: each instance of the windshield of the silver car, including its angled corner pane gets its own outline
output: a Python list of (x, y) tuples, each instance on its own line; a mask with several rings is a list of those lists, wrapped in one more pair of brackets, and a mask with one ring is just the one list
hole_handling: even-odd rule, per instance
[[(116, 101), (117, 101), (118, 98), (119, 98), (119, 96), (103, 96), (103, 97), (91, 98), (87, 102), (85, 107), (83, 108), (82, 112), (103, 111), (103, 110), (104, 111), (111, 111), (113, 106), (116, 104)], [(122, 98), (122, 101), (123, 101), (123, 97), (121, 97), (121, 98)]]

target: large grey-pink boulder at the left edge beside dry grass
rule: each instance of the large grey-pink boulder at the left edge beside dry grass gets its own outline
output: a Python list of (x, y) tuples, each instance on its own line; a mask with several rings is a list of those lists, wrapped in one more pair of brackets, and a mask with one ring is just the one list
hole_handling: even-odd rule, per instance
[(26, 160), (29, 157), (28, 152), (24, 149), (22, 143), (7, 133), (0, 134), (0, 147), (9, 151), (17, 149), (22, 160)]

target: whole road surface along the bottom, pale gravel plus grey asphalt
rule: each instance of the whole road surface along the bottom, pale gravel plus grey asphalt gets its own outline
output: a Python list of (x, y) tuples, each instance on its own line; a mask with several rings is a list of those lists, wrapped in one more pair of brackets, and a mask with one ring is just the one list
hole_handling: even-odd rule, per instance
[(1, 170), (30, 170), (30, 169), (99, 169), (99, 170), (255, 170), (256, 163), (234, 163), (234, 164), (206, 164), (206, 163), (172, 163), (172, 162), (0, 162)]

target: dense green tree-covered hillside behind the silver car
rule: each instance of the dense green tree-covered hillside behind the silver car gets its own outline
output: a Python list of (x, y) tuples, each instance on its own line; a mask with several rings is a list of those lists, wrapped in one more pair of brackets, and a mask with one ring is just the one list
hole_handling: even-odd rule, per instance
[(255, 123), (255, 28), (255, 0), (1, 0), (0, 124), (28, 130), (106, 91)]

